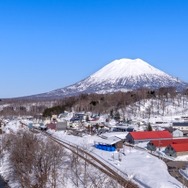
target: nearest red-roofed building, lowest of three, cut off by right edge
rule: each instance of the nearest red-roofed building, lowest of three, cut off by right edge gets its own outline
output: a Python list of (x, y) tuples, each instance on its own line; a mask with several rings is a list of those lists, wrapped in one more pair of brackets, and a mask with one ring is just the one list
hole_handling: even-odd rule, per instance
[(166, 155), (177, 157), (181, 155), (188, 155), (188, 143), (184, 144), (170, 144), (165, 149)]

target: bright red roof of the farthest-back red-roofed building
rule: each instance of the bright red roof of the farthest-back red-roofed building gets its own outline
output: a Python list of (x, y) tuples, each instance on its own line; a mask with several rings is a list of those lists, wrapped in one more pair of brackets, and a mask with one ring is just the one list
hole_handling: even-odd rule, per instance
[(172, 135), (168, 131), (138, 131), (129, 133), (134, 140), (146, 140), (146, 139), (160, 139), (160, 138), (172, 138)]

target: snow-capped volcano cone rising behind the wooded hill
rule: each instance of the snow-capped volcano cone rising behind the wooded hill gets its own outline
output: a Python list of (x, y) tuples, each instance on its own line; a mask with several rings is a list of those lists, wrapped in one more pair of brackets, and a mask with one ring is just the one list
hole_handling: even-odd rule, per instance
[(80, 93), (113, 93), (138, 88), (187, 87), (187, 83), (172, 77), (141, 59), (115, 60), (88, 78), (71, 86), (38, 97), (72, 96)]

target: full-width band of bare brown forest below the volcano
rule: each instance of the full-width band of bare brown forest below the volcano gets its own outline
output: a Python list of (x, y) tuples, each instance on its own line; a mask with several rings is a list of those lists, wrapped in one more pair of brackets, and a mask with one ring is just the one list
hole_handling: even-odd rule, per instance
[[(160, 108), (168, 99), (188, 96), (188, 89), (177, 92), (175, 88), (160, 88), (150, 90), (147, 88), (128, 92), (116, 92), (113, 94), (81, 94), (79, 96), (66, 97), (63, 99), (45, 100), (10, 100), (0, 102), (0, 115), (32, 115), (32, 116), (51, 116), (66, 111), (93, 112), (93, 113), (112, 113), (119, 109), (138, 103), (145, 99), (157, 99), (160, 101)], [(162, 105), (163, 104), (163, 105)]]

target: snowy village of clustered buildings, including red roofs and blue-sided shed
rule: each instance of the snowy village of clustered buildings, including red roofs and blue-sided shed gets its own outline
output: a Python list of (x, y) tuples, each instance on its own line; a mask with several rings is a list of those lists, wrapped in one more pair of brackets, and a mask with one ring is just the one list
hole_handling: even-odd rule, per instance
[[(156, 118), (157, 119), (157, 118)], [(151, 152), (160, 151), (162, 156), (178, 157), (188, 155), (188, 117), (176, 117), (166, 121), (152, 119), (152, 123), (137, 120), (110, 119), (92, 113), (70, 113), (53, 115), (51, 119), (29, 118), (29, 129), (47, 132), (64, 131), (69, 135), (96, 137), (93, 145), (102, 150), (115, 151), (123, 144), (139, 146)], [(158, 152), (159, 153), (159, 152)]]

